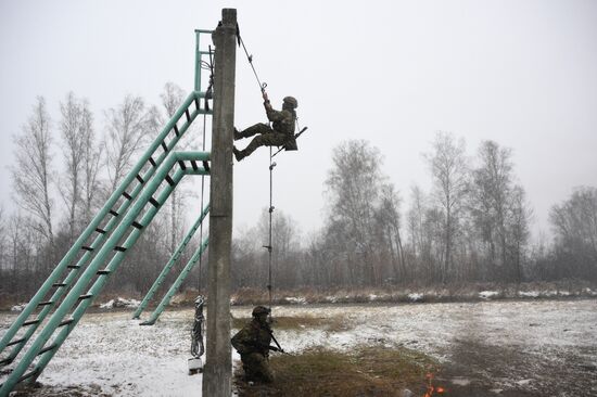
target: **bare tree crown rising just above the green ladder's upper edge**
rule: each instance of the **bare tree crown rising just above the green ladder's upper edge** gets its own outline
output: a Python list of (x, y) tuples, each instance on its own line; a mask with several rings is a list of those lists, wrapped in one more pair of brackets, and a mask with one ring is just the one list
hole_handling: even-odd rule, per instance
[(157, 131), (158, 112), (147, 107), (142, 98), (127, 95), (116, 108), (106, 112), (105, 153), (111, 192), (130, 169), (135, 155)]

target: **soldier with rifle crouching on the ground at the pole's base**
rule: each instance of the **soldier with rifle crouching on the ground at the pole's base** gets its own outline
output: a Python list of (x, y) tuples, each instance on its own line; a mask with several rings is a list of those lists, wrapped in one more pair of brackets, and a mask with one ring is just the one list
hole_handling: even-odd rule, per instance
[(241, 355), (242, 368), (246, 382), (274, 382), (274, 374), (269, 369), (269, 350), (278, 351), (271, 342), (271, 328), (267, 322), (269, 309), (256, 306), (253, 309), (253, 320), (244, 325), (232, 337), (232, 346)]

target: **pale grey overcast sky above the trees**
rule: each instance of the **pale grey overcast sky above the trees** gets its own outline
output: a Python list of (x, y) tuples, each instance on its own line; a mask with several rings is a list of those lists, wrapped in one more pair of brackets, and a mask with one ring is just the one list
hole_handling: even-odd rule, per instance
[[(3, 0), (2, 205), (14, 208), (11, 137), (36, 95), (46, 97), (54, 121), (69, 90), (89, 99), (103, 133), (103, 111), (127, 93), (158, 104), (166, 81), (192, 90), (193, 31), (215, 28), (223, 8), (238, 10), (274, 105), (296, 97), (309, 127), (298, 152), (276, 157), (275, 175), (275, 206), (306, 232), (321, 226), (331, 151), (348, 139), (381, 150), (382, 169), (405, 201), (414, 183), (430, 187), (421, 153), (436, 131), (465, 138), (470, 155), (487, 139), (511, 148), (535, 233), (547, 231), (549, 207), (574, 187), (597, 185), (596, 1)], [(234, 123), (264, 117), (239, 50)], [(234, 167), (237, 230), (268, 205), (267, 154)]]

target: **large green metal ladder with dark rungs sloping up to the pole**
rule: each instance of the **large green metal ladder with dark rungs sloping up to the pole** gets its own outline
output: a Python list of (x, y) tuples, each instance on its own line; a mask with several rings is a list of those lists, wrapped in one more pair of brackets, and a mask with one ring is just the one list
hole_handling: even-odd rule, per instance
[[(7, 397), (20, 383), (35, 382), (41, 374), (178, 182), (186, 175), (208, 175), (208, 152), (173, 150), (198, 115), (212, 114), (208, 108), (201, 106), (201, 100), (206, 95), (200, 91), (202, 56), (211, 55), (209, 52), (200, 51), (200, 35), (211, 33), (195, 30), (195, 90), (180, 105), (0, 340), (0, 368), (15, 363), (0, 384), (0, 397)], [(200, 246), (201, 253), (203, 245)], [(86, 291), (92, 281), (93, 284)], [(47, 298), (49, 293), (51, 297)], [(75, 305), (76, 308), (71, 312)], [(36, 331), (38, 334), (34, 340)], [(53, 335), (54, 338), (48, 344)], [(21, 353), (22, 357), (17, 359)]]

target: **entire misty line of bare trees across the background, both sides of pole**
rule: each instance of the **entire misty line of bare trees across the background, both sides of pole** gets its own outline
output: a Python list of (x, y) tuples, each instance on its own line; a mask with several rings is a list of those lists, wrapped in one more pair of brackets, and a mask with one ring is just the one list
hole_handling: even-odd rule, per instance
[[(73, 92), (61, 101), (55, 119), (45, 99), (37, 99), (13, 140), (10, 171), (17, 209), (5, 214), (0, 208), (1, 294), (26, 298), (37, 291), (183, 98), (174, 84), (165, 85), (161, 106), (126, 95), (103, 113), (100, 128), (89, 101)], [(302, 235), (291, 215), (275, 213), (276, 287), (597, 281), (596, 188), (579, 188), (555, 204), (549, 214), (552, 241), (533, 243), (533, 213), (516, 177), (512, 151), (495, 141), (482, 142), (471, 156), (462, 139), (436, 133), (423, 154), (432, 188), (412, 185), (406, 193), (390, 182), (381, 151), (368, 141), (341, 142), (331, 155), (320, 230)], [(188, 187), (173, 193), (109, 291), (148, 291), (182, 239), (191, 196)], [(236, 233), (237, 289), (268, 282), (268, 252), (263, 248), (268, 221), (266, 208), (257, 225)], [(170, 278), (198, 244), (191, 244)], [(196, 287), (198, 280), (204, 284), (205, 267), (195, 268), (183, 287)]]

